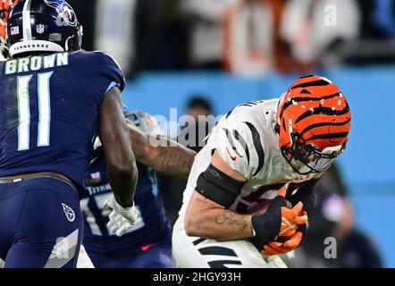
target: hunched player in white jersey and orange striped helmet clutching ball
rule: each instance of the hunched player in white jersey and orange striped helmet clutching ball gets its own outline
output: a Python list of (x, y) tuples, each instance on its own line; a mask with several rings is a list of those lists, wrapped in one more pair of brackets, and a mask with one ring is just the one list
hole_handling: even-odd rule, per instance
[(351, 114), (330, 80), (236, 106), (196, 156), (172, 234), (180, 267), (276, 267), (298, 248), (314, 186), (346, 147)]

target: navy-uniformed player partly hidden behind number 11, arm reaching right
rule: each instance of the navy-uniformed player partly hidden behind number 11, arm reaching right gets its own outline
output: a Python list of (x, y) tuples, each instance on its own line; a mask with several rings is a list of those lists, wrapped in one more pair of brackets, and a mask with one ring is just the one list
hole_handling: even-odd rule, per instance
[[(135, 203), (139, 219), (121, 238), (107, 227), (110, 210), (103, 207), (112, 190), (106, 175), (105, 156), (100, 140), (86, 178), (81, 199), (84, 214), (82, 244), (98, 268), (167, 268), (172, 263), (172, 230), (156, 182), (155, 171), (188, 178), (195, 152), (169, 139), (157, 137), (161, 130), (155, 118), (142, 112), (127, 112), (130, 140), (137, 159), (139, 181)], [(88, 267), (82, 251), (78, 267)]]

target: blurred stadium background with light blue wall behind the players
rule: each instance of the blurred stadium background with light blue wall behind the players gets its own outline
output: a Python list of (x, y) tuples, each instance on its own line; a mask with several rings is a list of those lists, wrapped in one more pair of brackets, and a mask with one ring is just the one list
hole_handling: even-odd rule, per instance
[[(307, 240), (301, 257), (310, 262), (290, 265), (395, 267), (395, 1), (68, 2), (84, 26), (83, 47), (122, 66), (130, 109), (218, 115), (279, 97), (300, 75), (333, 80), (349, 99), (352, 127), (335, 176), (321, 187), (316, 223), (324, 230), (311, 235), (336, 237), (341, 252), (325, 261), (324, 241), (311, 250)], [(172, 220), (183, 183), (160, 177)]]

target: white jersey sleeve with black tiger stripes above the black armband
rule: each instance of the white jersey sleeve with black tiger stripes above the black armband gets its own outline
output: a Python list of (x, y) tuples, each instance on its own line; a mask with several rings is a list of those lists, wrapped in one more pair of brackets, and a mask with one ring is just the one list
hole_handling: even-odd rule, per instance
[(215, 148), (219, 155), (233, 170), (249, 180), (257, 171), (259, 162), (248, 124), (240, 120), (240, 117), (231, 116), (217, 127)]

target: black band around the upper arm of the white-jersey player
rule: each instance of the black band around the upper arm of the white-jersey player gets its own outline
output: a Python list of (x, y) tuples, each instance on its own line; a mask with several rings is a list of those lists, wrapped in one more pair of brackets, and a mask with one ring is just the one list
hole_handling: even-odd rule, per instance
[(244, 182), (236, 181), (210, 164), (198, 177), (199, 194), (225, 208), (229, 208), (240, 195)]

